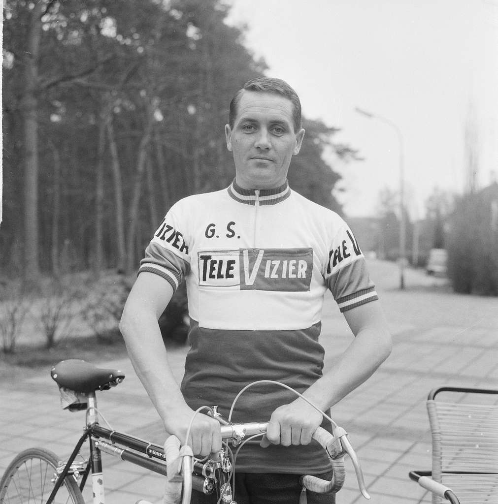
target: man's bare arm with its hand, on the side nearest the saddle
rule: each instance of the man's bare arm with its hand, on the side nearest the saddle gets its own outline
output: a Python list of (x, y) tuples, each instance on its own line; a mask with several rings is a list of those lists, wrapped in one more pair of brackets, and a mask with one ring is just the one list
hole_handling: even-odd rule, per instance
[[(171, 371), (157, 323), (173, 296), (171, 285), (153, 273), (141, 273), (128, 296), (120, 323), (130, 360), (170, 434), (185, 441), (193, 411), (185, 402)], [(190, 440), (194, 454), (221, 449), (219, 424), (197, 415)]]

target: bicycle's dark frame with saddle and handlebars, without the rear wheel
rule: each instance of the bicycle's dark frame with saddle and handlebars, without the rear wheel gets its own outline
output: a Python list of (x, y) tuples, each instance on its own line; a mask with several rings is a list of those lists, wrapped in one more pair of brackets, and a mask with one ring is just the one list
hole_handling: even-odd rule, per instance
[[(61, 462), (56, 469), (57, 477), (53, 480), (55, 485), (45, 504), (52, 504), (66, 477), (74, 478), (80, 491), (83, 491), (90, 474), (93, 503), (105, 504), (101, 452), (167, 477), (168, 464), (170, 464), (170, 471), (173, 472), (168, 480), (183, 482), (182, 502), (184, 504), (190, 502), (192, 489), (203, 493), (212, 493), (215, 489), (218, 499), (223, 497), (224, 502), (232, 501), (230, 485), (232, 462), (228, 455), (228, 447), (223, 448), (220, 452), (212, 453), (207, 462), (205, 460), (196, 461), (188, 446), (180, 450), (180, 441), (175, 436), (170, 436), (163, 448), (124, 432), (102, 427), (98, 422), (96, 390), (107, 390), (118, 385), (124, 379), (124, 374), (119, 370), (96, 368), (84, 361), (77, 360), (62, 361), (58, 366), (52, 368), (52, 378), (59, 384), (61, 390), (64, 389), (64, 396), (61, 397), (64, 397), (65, 402), (69, 404), (70, 410), (86, 408), (86, 427), (67, 462)], [(70, 394), (67, 397), (67, 393), (73, 390), (76, 393), (82, 393), (83, 396), (76, 395), (73, 398)], [(85, 392), (89, 390), (93, 392)], [(75, 400), (70, 402), (68, 399)], [(231, 440), (234, 447), (241, 447), (251, 439), (247, 436), (261, 435), (266, 432), (267, 423), (233, 424), (217, 413), (216, 406), (208, 409), (221, 424), (222, 438), (227, 442)], [(75, 459), (87, 439), (90, 448), (89, 460), (83, 464), (75, 463)], [(325, 450), (333, 467), (333, 478), (331, 481), (326, 481), (315, 476), (301, 476), (301, 484), (307, 489), (319, 493), (339, 491), (345, 478), (344, 456), (348, 454), (355, 468), (360, 491), (365, 498), (370, 498), (366, 491), (358, 458), (349, 443), (347, 432), (336, 424), (334, 434), (318, 427), (313, 432), (313, 439)], [(168, 460), (165, 450), (168, 451)], [(79, 481), (80, 477), (82, 478), (81, 482)]]

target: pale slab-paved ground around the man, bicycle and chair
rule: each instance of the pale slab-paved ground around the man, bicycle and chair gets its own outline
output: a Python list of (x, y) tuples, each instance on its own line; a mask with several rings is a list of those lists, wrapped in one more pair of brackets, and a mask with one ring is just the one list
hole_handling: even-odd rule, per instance
[[(408, 479), (412, 469), (430, 468), (430, 436), (425, 399), (441, 385), (498, 388), (498, 302), (455, 295), (441, 282), (407, 272), (407, 289), (396, 287), (397, 270), (371, 264), (395, 346), (372, 378), (333, 409), (355, 447), (373, 504), (429, 503), (424, 490)], [(351, 341), (339, 310), (327, 299), (320, 342), (325, 370)], [(186, 349), (170, 352), (180, 379)], [(116, 430), (161, 444), (158, 416), (127, 359), (102, 362), (127, 374), (119, 387), (98, 395), (99, 409)], [(84, 414), (59, 407), (57, 386), (49, 369), (15, 383), (0, 383), (0, 473), (22, 449), (40, 446), (67, 456), (84, 423)], [(159, 475), (103, 454), (107, 504), (133, 504), (139, 498), (161, 501)], [(346, 484), (338, 504), (353, 504), (359, 495), (352, 466), (346, 461)], [(105, 469), (106, 468), (106, 469)], [(91, 495), (85, 494), (88, 502)]]

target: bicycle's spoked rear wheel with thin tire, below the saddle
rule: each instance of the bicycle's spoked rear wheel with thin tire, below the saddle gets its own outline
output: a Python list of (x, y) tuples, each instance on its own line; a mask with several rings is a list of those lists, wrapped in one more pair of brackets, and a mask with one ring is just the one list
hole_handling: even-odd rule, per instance
[[(44, 448), (29, 448), (9, 464), (0, 480), (0, 504), (44, 504), (52, 489), (58, 457)], [(53, 504), (85, 504), (73, 476), (67, 476)]]

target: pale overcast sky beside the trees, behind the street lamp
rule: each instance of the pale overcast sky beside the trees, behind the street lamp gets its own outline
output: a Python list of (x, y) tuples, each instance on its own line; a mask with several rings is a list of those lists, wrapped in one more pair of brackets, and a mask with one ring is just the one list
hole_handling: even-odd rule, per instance
[(381, 188), (400, 186), (424, 216), (434, 187), (461, 193), (464, 138), (474, 124), (478, 182), (498, 173), (498, 0), (232, 0), (230, 23), (247, 23), (246, 45), (268, 76), (301, 97), (303, 113), (339, 127), (337, 141), (365, 161), (336, 163), (349, 216), (372, 215)]

